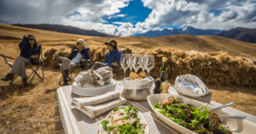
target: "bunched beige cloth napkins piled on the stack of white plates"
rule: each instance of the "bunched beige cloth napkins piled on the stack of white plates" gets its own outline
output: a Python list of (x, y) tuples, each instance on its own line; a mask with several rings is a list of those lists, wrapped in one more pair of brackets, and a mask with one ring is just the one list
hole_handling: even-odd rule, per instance
[(79, 75), (74, 77), (75, 82), (79, 87), (84, 87), (88, 83), (95, 83), (96, 85), (104, 86), (111, 82), (113, 77), (112, 69), (109, 66), (96, 68), (96, 70), (85, 70), (79, 72)]

